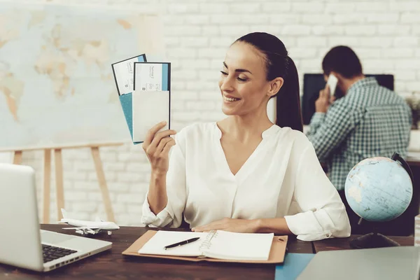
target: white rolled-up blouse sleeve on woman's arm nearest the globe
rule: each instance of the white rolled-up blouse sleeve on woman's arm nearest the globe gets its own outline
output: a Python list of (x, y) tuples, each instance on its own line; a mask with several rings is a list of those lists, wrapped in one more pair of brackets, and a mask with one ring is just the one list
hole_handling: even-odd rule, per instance
[(349, 217), (344, 204), (323, 172), (309, 142), (297, 167), (293, 201), (301, 213), (284, 218), (297, 239), (314, 241), (350, 236)]

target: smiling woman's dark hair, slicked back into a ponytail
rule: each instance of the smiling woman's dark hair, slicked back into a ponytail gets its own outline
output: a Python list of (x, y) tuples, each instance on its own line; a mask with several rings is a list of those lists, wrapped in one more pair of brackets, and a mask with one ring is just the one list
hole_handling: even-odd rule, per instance
[(291, 127), (293, 130), (303, 131), (302, 113), (300, 111), (299, 78), (295, 62), (288, 57), (283, 42), (271, 34), (254, 32), (237, 39), (253, 45), (265, 55), (267, 66), (267, 80), (281, 77), (283, 86), (274, 97), (276, 101), (276, 125)]

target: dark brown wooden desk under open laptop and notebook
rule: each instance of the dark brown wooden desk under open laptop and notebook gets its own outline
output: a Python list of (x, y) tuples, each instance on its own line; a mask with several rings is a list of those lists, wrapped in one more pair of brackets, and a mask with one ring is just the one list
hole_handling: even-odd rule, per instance
[[(64, 225), (41, 225), (41, 228), (77, 235), (71, 230), (61, 230)], [(150, 228), (121, 227), (113, 232), (111, 237), (101, 233), (94, 238), (113, 242), (111, 250), (51, 272), (38, 273), (0, 265), (0, 279), (274, 279), (275, 265), (196, 263), (121, 254), (147, 230)], [(313, 253), (312, 243), (291, 237), (288, 241), (288, 251)]]

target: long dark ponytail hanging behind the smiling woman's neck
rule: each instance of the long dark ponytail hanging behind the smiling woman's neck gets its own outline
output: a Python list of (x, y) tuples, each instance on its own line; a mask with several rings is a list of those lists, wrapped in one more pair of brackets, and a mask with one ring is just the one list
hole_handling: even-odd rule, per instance
[(290, 127), (303, 132), (302, 112), (300, 111), (299, 76), (295, 62), (290, 57), (286, 77), (276, 94), (276, 125)]

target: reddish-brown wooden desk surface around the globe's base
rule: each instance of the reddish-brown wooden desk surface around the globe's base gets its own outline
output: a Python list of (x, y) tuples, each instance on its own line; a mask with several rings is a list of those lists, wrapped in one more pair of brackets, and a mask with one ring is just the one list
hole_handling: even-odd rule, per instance
[[(350, 241), (353, 238), (360, 237), (361, 235), (351, 235), (347, 238), (335, 238), (335, 239), (324, 239), (320, 241), (312, 242), (314, 244), (314, 253), (320, 251), (332, 251), (332, 250), (349, 250)], [(414, 237), (401, 237), (401, 236), (388, 236), (393, 241), (398, 242), (401, 246), (414, 246)]]

